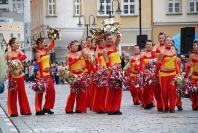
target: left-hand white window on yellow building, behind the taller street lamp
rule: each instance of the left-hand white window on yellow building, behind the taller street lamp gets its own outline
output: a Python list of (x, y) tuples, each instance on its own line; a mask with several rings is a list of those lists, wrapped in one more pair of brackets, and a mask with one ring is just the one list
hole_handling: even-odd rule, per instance
[(103, 12), (99, 12), (100, 15), (109, 15), (109, 11), (112, 10), (112, 0), (98, 0), (98, 11), (102, 9)]

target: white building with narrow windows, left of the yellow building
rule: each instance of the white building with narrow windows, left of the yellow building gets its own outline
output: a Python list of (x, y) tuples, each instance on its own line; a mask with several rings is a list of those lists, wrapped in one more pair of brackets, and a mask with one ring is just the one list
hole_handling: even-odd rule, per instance
[(46, 26), (61, 30), (61, 40), (56, 41), (56, 59), (65, 61), (68, 43), (86, 36), (84, 28), (78, 27), (73, 0), (31, 0), (32, 38), (47, 37)]

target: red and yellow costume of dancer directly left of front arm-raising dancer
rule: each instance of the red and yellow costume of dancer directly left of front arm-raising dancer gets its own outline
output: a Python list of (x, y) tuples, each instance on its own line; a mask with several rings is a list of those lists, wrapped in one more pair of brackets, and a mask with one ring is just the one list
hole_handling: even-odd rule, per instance
[[(102, 48), (99, 48), (99, 52), (98, 52), (98, 65), (99, 68), (106, 68), (106, 62), (102, 54)], [(93, 101), (94, 112), (106, 111), (105, 101), (106, 101), (107, 91), (108, 91), (107, 87), (99, 87), (99, 88), (97, 87), (95, 89), (94, 101)]]

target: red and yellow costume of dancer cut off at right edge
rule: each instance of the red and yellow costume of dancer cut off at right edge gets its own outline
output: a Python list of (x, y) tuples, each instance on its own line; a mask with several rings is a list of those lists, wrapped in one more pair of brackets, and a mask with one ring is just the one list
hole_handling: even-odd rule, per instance
[[(195, 57), (192, 57), (192, 66), (188, 66), (186, 70), (186, 76), (188, 77), (190, 73), (190, 69), (192, 67), (192, 83), (197, 83), (198, 82), (198, 59)], [(192, 93), (190, 96), (190, 99), (192, 101), (192, 109), (193, 110), (198, 110), (198, 94), (197, 93)]]

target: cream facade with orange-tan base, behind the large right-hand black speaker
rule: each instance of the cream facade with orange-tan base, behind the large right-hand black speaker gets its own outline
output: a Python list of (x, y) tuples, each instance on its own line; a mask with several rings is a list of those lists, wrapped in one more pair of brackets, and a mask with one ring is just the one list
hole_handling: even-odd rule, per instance
[(198, 32), (198, 0), (153, 0), (153, 40), (159, 32), (169, 36), (183, 27), (195, 27)]

